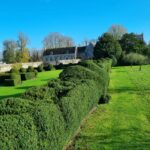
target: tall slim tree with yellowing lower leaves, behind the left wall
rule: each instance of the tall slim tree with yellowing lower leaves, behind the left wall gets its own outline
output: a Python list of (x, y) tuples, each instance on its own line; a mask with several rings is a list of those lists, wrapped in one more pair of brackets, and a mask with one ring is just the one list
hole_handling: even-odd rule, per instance
[(18, 35), (18, 51), (16, 54), (16, 60), (18, 62), (29, 62), (30, 55), (29, 55), (29, 49), (27, 48), (27, 44), (29, 42), (29, 39), (27, 36), (25, 36), (23, 33), (19, 33)]

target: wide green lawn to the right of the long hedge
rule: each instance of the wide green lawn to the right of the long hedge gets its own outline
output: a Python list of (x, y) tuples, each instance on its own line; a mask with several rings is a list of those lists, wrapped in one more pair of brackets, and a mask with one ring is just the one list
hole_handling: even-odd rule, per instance
[(112, 69), (109, 104), (82, 126), (75, 150), (150, 150), (150, 66)]

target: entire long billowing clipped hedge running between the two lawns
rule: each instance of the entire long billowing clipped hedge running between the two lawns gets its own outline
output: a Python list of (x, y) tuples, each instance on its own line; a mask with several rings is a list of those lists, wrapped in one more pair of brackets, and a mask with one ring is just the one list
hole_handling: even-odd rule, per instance
[(68, 67), (59, 79), (30, 88), (22, 99), (0, 101), (0, 148), (62, 150), (88, 112), (107, 100), (108, 61)]

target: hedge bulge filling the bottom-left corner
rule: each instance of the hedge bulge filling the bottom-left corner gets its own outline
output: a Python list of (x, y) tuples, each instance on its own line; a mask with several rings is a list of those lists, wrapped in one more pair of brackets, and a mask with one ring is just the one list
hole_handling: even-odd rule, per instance
[(37, 149), (37, 132), (28, 113), (30, 104), (22, 99), (0, 101), (0, 149)]

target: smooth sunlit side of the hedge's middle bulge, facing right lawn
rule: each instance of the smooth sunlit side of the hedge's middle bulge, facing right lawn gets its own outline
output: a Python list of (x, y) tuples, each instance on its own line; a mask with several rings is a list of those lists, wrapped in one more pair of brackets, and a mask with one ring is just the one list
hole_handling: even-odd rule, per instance
[(97, 105), (102, 91), (96, 87), (93, 80), (86, 80), (62, 97), (60, 106), (70, 134), (77, 129), (93, 106)]

